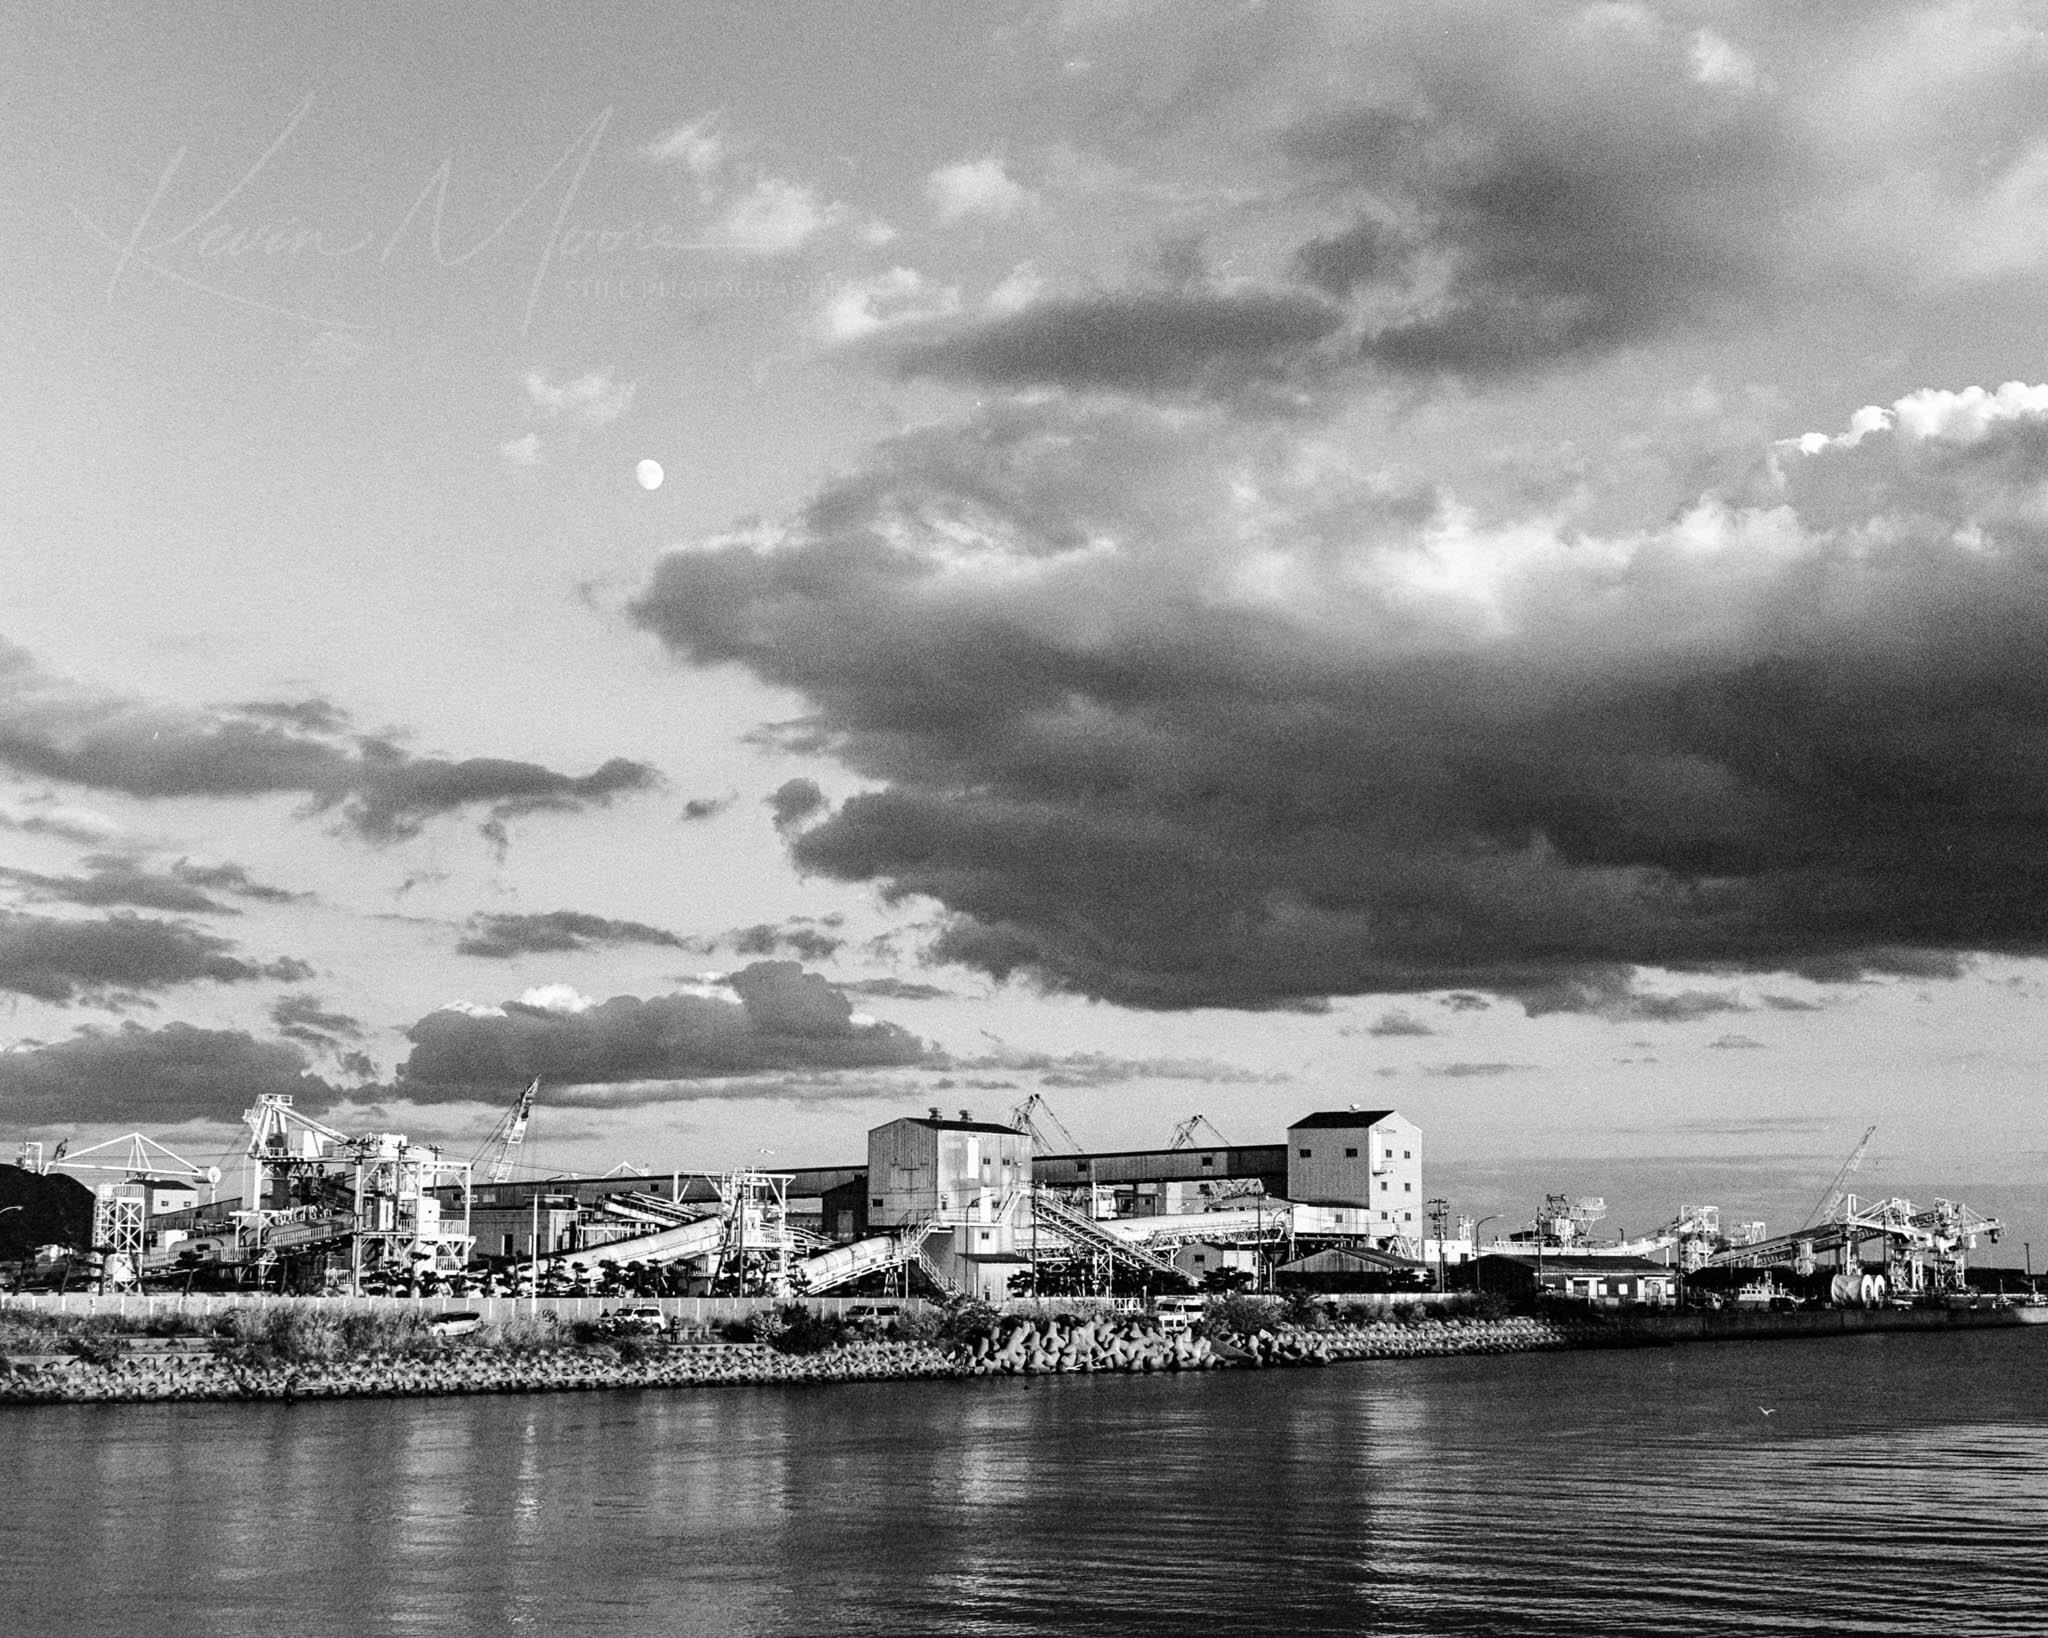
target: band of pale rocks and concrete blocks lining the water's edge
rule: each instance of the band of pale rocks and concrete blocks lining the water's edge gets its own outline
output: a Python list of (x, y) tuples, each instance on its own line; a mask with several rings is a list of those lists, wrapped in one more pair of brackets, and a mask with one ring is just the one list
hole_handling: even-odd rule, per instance
[(782, 1353), (766, 1343), (717, 1343), (623, 1351), (449, 1345), (297, 1364), (207, 1351), (117, 1353), (100, 1362), (68, 1355), (14, 1357), (0, 1360), (0, 1405), (387, 1398), (1055, 1372), (1149, 1374), (1442, 1353), (1526, 1353), (1642, 1341), (1612, 1325), (1548, 1319), (1430, 1319), (1313, 1331), (1274, 1327), (1241, 1339), (1210, 1341), (1194, 1333), (1169, 1337), (1143, 1319), (1006, 1317), (981, 1335), (948, 1343), (862, 1341), (819, 1353)]

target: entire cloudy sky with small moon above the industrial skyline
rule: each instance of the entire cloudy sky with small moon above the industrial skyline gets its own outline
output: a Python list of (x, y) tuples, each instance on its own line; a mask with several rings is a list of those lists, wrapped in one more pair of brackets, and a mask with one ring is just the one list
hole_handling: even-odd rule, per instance
[(1647, 1228), (1878, 1122), (2048, 1261), (2040, 8), (0, 51), (10, 1140), (1364, 1104)]

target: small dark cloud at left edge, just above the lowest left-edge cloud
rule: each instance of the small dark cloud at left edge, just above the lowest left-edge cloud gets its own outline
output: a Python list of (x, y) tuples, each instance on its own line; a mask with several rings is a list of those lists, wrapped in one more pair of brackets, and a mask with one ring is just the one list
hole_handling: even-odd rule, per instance
[(37, 1001), (133, 995), (188, 983), (293, 983), (311, 968), (289, 956), (248, 962), (229, 954), (225, 938), (182, 921), (109, 915), (100, 921), (59, 921), (0, 911), (0, 989)]

